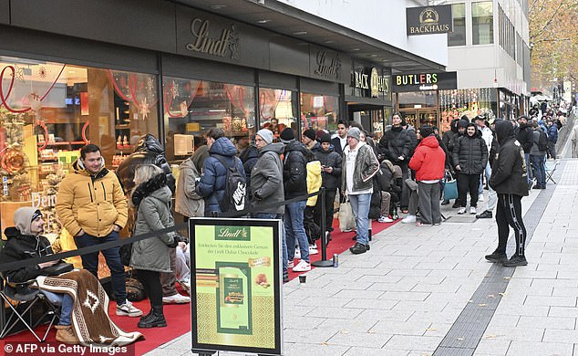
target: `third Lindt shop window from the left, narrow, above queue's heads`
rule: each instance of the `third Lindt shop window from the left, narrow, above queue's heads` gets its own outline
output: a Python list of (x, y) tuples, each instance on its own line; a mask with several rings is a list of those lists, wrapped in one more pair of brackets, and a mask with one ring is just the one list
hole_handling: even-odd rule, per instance
[(267, 128), (279, 138), (281, 131), (290, 127), (297, 135), (297, 93), (284, 89), (259, 89), (259, 113), (261, 128)]

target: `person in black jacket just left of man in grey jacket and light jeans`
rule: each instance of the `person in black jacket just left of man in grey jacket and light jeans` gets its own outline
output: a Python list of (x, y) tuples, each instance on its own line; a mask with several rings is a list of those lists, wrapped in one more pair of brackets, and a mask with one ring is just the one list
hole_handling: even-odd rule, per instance
[(333, 151), (331, 147), (331, 136), (325, 133), (321, 137), (321, 150), (315, 152), (315, 158), (321, 162), (321, 186), (325, 187), (325, 212), (321, 211), (321, 199), (317, 199), (315, 205), (314, 219), (320, 221), (321, 216), (325, 216), (325, 231), (333, 231), (333, 204), (337, 187), (341, 183), (341, 156)]

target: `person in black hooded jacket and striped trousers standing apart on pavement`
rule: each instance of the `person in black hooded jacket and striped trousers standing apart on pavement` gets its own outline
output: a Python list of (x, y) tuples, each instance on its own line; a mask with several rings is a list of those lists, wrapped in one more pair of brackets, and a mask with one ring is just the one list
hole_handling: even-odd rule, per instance
[[(526, 162), (523, 148), (514, 136), (511, 123), (496, 121), (496, 136), (500, 150), (491, 166), (490, 185), (498, 194), (496, 224), (498, 225), (498, 247), (486, 259), (501, 263), (505, 267), (526, 266), (526, 227), (521, 214), (521, 198), (528, 195)], [(510, 236), (510, 226), (516, 238), (516, 250), (508, 259), (506, 246)]]

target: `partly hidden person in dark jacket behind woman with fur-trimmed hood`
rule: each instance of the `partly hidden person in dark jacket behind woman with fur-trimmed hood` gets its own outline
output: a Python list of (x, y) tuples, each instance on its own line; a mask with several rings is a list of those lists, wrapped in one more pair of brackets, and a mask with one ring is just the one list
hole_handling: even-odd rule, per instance
[(165, 158), (165, 152), (160, 141), (154, 135), (148, 133), (139, 140), (137, 148), (130, 153), (126, 160), (120, 163), (117, 176), (122, 184), (125, 194), (129, 194), (134, 188), (134, 171), (142, 164), (154, 164), (167, 175), (167, 186), (172, 194), (175, 193), (175, 177), (170, 171), (169, 162)]

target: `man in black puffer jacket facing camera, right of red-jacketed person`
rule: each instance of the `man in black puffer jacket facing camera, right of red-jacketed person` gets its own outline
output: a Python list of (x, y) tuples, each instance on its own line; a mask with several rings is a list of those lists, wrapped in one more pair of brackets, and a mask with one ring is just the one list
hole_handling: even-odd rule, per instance
[(480, 174), (488, 163), (488, 148), (481, 138), (476, 124), (469, 123), (466, 134), (459, 138), (452, 155), (454, 167), (459, 173), (459, 211), (466, 213), (467, 194), (470, 191), (470, 214), (476, 214)]

